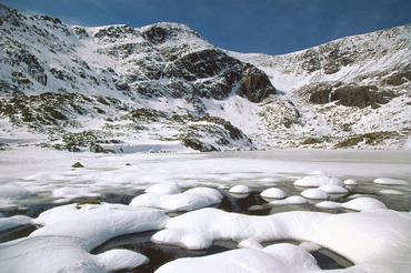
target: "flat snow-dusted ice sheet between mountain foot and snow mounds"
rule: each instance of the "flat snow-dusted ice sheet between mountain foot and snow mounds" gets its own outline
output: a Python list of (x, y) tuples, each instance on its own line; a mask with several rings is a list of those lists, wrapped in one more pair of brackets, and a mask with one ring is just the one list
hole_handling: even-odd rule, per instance
[[(168, 182), (181, 188), (245, 184), (262, 190), (294, 182), (313, 171), (359, 180), (370, 191), (369, 186), (375, 191), (390, 188), (372, 183), (378, 178), (411, 179), (410, 150), (93, 154), (20, 148), (1, 151), (1, 155), (0, 208), (133, 195), (151, 184)], [(71, 168), (74, 162), (86, 168)], [(407, 186), (400, 190), (409, 194)]]

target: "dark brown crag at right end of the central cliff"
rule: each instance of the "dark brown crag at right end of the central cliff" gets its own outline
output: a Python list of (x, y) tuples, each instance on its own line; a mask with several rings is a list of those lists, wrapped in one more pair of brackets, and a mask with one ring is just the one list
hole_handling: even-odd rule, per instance
[(245, 97), (251, 102), (261, 102), (270, 94), (275, 94), (275, 88), (271, 84), (264, 72), (245, 63), (242, 68), (242, 79), (237, 94)]

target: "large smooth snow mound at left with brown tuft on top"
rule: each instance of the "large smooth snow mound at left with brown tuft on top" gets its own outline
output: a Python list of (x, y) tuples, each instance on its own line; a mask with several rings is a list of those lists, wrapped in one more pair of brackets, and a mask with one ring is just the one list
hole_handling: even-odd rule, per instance
[(147, 208), (68, 204), (41, 213), (33, 223), (43, 226), (30, 236), (80, 237), (82, 245), (93, 249), (118, 235), (162, 229), (167, 220), (164, 212)]

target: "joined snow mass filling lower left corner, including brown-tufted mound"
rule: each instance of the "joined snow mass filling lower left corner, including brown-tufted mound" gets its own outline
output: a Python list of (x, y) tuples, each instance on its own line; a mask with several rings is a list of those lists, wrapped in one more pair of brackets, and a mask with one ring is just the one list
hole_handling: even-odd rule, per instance
[[(107, 240), (159, 230), (168, 216), (153, 209), (120, 204), (58, 206), (32, 221), (43, 225), (28, 237), (0, 244), (0, 265), (12, 272), (111, 272), (147, 263), (131, 251), (89, 252)], [(116, 262), (113, 262), (116, 261)]]

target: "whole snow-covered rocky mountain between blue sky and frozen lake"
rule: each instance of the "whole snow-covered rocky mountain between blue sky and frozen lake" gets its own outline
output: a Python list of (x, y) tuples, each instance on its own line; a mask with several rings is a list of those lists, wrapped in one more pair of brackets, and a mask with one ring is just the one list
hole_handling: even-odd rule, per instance
[(1, 138), (94, 152), (404, 146), (410, 37), (243, 54), (179, 23), (83, 28), (1, 6)]

